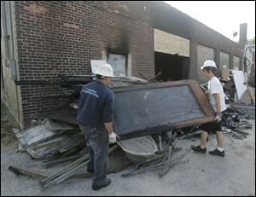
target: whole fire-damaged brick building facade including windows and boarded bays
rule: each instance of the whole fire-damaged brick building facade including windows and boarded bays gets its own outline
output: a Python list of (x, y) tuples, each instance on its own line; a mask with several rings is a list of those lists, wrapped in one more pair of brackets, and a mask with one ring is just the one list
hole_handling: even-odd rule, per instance
[[(212, 59), (218, 68), (242, 69), (241, 43), (164, 2), (2, 1), (1, 98), (20, 123), (66, 101), (59, 85), (15, 85), (88, 75), (90, 60), (108, 61), (119, 76), (160, 80), (196, 79)], [(62, 95), (62, 96), (61, 96)]]

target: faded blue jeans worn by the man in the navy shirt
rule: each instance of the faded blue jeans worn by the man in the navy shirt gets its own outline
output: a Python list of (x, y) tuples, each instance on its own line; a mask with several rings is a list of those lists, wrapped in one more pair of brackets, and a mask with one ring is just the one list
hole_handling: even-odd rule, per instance
[(79, 125), (84, 134), (90, 154), (88, 168), (94, 170), (93, 185), (102, 185), (107, 177), (108, 168), (108, 134), (105, 128)]

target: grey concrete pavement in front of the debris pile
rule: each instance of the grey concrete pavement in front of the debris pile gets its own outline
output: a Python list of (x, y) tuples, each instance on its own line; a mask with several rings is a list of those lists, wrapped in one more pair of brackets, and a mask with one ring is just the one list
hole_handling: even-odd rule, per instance
[[(255, 120), (246, 139), (239, 140), (232, 134), (224, 134), (225, 157), (198, 154), (191, 151), (182, 160), (187, 163), (175, 165), (165, 177), (158, 171), (121, 177), (134, 165), (116, 174), (110, 174), (112, 183), (98, 191), (91, 189), (91, 178), (70, 179), (41, 191), (39, 178), (16, 177), (8, 171), (9, 165), (51, 173), (56, 168), (43, 169), (42, 161), (32, 160), (26, 153), (16, 153), (17, 146), (1, 145), (1, 196), (30, 195), (252, 195), (255, 196)], [(175, 140), (177, 147), (197, 145), (200, 138)], [(216, 148), (216, 137), (211, 135), (207, 151)], [(182, 152), (181, 151), (181, 152)], [(180, 153), (178, 153), (180, 154)], [(42, 170), (43, 169), (43, 170)]]

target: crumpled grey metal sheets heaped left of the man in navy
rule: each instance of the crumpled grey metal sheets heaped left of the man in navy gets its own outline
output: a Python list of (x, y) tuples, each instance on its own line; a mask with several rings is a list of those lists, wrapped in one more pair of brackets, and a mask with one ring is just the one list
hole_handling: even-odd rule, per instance
[(27, 151), (33, 159), (73, 154), (85, 144), (77, 126), (52, 119), (44, 119), (42, 125), (27, 130), (13, 131), (19, 140), (19, 151)]

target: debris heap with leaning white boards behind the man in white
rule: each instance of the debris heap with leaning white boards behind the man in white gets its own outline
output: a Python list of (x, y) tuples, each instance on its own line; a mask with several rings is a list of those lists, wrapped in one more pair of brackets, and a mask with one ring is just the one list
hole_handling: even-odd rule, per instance
[[(230, 70), (229, 80), (223, 81), (227, 96), (227, 109), (224, 113), (224, 133), (231, 133), (236, 139), (244, 139), (252, 129), (248, 119), (255, 119), (255, 92), (247, 84), (247, 72)], [(255, 91), (255, 89), (254, 89)], [(253, 106), (254, 104), (254, 106)]]

